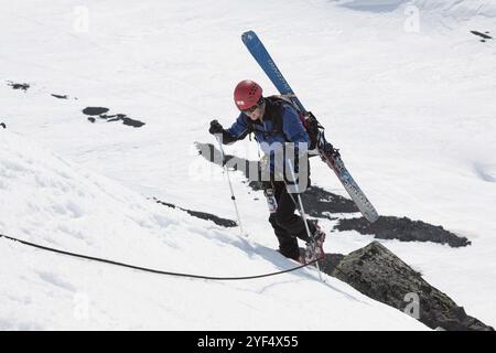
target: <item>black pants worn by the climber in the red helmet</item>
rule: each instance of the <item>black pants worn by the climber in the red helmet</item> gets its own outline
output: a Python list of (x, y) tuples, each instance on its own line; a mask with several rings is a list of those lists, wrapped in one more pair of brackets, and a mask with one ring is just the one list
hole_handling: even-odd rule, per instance
[[(294, 214), (296, 210), (298, 195), (289, 194), (282, 181), (272, 182), (274, 196), (278, 202), (278, 210), (270, 214), (269, 222), (273, 227), (279, 240), (279, 252), (285, 257), (298, 260), (300, 248), (298, 239), (309, 242), (309, 235), (303, 220)], [(292, 197), (291, 197), (292, 196)], [(294, 201), (293, 201), (294, 199)], [(315, 232), (315, 225), (309, 222), (310, 232)]]

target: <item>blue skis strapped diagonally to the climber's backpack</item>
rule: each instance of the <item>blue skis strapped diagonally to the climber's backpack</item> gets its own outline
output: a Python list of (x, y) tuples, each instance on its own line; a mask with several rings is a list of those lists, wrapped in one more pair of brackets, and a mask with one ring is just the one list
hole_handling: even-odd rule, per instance
[[(248, 31), (242, 33), (241, 39), (254, 58), (270, 78), (276, 88), (278, 88), (279, 93), (289, 97), (301, 114), (306, 115), (311, 119), (315, 119), (312, 113), (306, 111), (300, 99), (298, 99), (298, 97), (294, 95), (293, 89), (289, 85), (288, 81), (285, 81), (281, 71), (276, 65), (274, 61), (270, 56), (269, 52), (267, 51), (258, 35), (254, 31)], [(353, 179), (352, 174), (344, 165), (338, 150), (333, 148), (333, 146), (325, 140), (323, 128), (320, 128), (319, 131), (317, 150), (321, 159), (332, 170), (334, 170), (346, 192), (355, 202), (364, 217), (369, 222), (376, 222), (379, 217), (376, 208), (370, 203), (370, 201), (368, 201), (365, 193), (362, 191), (356, 181)]]

